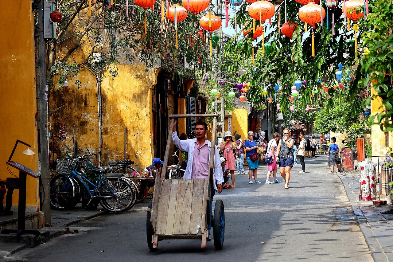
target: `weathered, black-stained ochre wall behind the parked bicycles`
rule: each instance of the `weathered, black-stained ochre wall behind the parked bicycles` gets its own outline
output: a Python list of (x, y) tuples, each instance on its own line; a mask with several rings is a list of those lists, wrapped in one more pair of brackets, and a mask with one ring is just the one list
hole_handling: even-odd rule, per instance
[[(101, 164), (124, 158), (124, 126), (126, 126), (126, 157), (134, 160), (134, 167), (143, 170), (152, 161), (151, 143), (151, 101), (152, 87), (156, 81), (156, 69), (145, 72), (146, 66), (116, 65), (118, 76), (112, 77), (105, 72), (101, 83), (103, 94), (103, 147)], [(66, 125), (70, 138), (59, 140), (55, 138), (58, 148), (64, 157), (66, 152), (73, 152), (72, 128), (75, 141), (80, 151), (89, 149), (98, 154), (99, 126), (98, 102), (94, 75), (87, 70), (81, 70), (77, 77), (81, 88), (75, 86), (75, 81), (69, 81), (68, 89), (62, 94), (62, 89), (52, 92), (52, 110), (64, 104), (65, 107), (52, 116), (55, 135), (61, 122)], [(97, 163), (97, 160), (93, 162)]]

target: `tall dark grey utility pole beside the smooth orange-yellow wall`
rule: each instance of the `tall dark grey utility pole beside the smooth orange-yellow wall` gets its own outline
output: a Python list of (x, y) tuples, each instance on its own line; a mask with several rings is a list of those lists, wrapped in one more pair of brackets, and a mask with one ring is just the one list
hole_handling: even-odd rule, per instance
[[(40, 207), (44, 212), (45, 223), (50, 224), (50, 177), (49, 177), (49, 134), (50, 123), (48, 116), (49, 107), (49, 88), (46, 82), (46, 41), (44, 39), (44, 1), (36, 4), (38, 9), (38, 26), (35, 26), (34, 38), (36, 39), (35, 66), (36, 66), (36, 83), (37, 83), (37, 105), (39, 113), (37, 114), (38, 130), (38, 157), (40, 162), (41, 181), (44, 192), (40, 192), (43, 197), (43, 205)], [(48, 134), (48, 135), (47, 135)]]

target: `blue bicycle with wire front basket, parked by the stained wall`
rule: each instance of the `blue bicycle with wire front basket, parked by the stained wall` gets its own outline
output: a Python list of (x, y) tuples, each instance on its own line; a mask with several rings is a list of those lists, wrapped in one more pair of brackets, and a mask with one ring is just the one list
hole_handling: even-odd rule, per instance
[[(89, 165), (90, 161), (84, 157), (57, 160), (56, 171), (60, 175), (51, 180), (51, 206), (55, 209), (75, 207), (80, 198), (80, 190), (77, 191), (80, 183), (90, 197), (90, 201), (99, 199), (103, 208), (110, 212), (128, 210), (136, 198), (129, 179), (123, 178), (123, 173), (107, 173), (110, 167), (96, 168), (91, 170), (98, 175), (94, 184), (81, 174), (83, 172), (77, 171), (81, 160), (88, 162)], [(89, 186), (93, 189), (90, 190)]]

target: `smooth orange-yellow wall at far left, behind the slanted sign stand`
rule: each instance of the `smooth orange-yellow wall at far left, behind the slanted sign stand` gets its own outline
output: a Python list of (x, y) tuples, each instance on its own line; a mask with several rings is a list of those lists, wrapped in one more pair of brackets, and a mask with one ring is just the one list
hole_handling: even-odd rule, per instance
[[(31, 145), (35, 155), (24, 155), (26, 146), (19, 144), (13, 161), (38, 171), (37, 112), (35, 88), (34, 16), (31, 1), (0, 1), (0, 179), (12, 175), (5, 162), (17, 139)], [(11, 171), (19, 176), (15, 169)], [(26, 210), (39, 209), (38, 179), (28, 176)], [(18, 190), (13, 194), (18, 205)]]

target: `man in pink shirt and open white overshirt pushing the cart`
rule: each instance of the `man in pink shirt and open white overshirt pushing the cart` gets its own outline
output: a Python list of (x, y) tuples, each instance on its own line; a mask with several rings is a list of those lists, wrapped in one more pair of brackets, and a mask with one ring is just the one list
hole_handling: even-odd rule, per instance
[[(209, 159), (210, 151), (213, 146), (214, 152), (214, 168), (213, 168), (213, 183), (214, 188), (211, 189), (210, 197), (210, 215), (211, 220), (208, 225), (209, 234), (211, 228), (211, 221), (213, 221), (213, 196), (217, 190), (219, 194), (222, 191), (222, 183), (224, 183), (224, 177), (222, 175), (221, 161), (219, 151), (216, 146), (211, 145), (211, 142), (206, 139), (206, 133), (208, 125), (205, 122), (195, 123), (195, 136), (196, 138), (180, 140), (176, 132), (176, 118), (173, 125), (172, 140), (180, 150), (188, 152), (187, 167), (184, 172), (184, 179), (198, 179), (208, 178), (209, 175)], [(208, 238), (210, 240), (210, 238)]]

